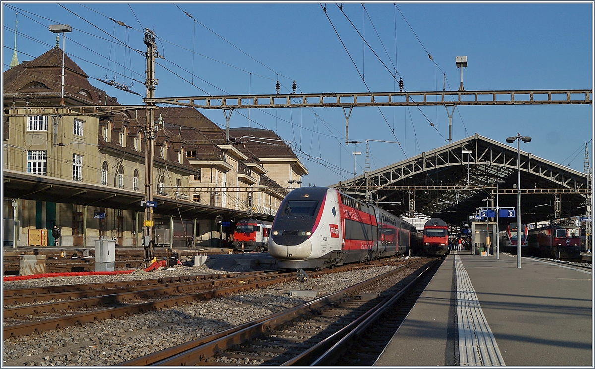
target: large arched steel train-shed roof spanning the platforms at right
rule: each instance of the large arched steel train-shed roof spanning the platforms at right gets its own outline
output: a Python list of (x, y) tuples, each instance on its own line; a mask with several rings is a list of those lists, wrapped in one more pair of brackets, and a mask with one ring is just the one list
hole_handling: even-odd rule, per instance
[[(516, 167), (516, 145), (475, 134), (330, 187), (398, 216), (415, 210), (460, 226), (478, 208), (496, 207), (496, 180), (504, 181), (498, 184), (500, 208), (516, 208)], [(560, 217), (585, 214), (584, 173), (524, 151), (520, 168), (522, 223), (553, 219), (556, 198)]]

